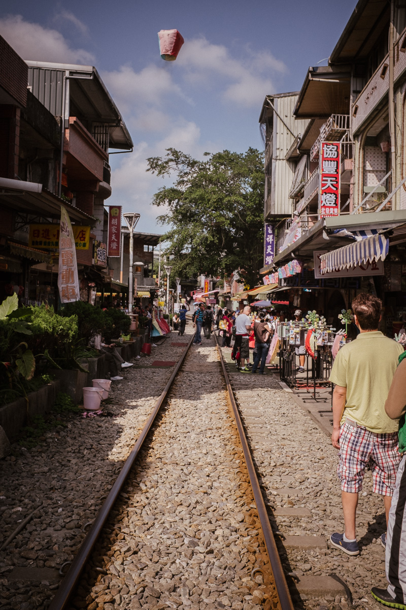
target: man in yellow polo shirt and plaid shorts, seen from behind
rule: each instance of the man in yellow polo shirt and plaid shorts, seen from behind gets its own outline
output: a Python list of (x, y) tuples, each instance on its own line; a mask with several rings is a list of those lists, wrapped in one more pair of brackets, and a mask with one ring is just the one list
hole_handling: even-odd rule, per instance
[[(358, 555), (355, 514), (369, 461), (373, 491), (383, 495), (388, 520), (400, 456), (397, 420), (385, 413), (385, 401), (403, 348), (378, 331), (379, 298), (361, 293), (352, 301), (352, 310), (360, 334), (338, 352), (330, 375), (335, 384), (331, 440), (340, 450), (337, 473), (345, 523), (344, 534), (332, 534), (330, 542), (348, 555)], [(381, 542), (385, 546), (386, 534)]]

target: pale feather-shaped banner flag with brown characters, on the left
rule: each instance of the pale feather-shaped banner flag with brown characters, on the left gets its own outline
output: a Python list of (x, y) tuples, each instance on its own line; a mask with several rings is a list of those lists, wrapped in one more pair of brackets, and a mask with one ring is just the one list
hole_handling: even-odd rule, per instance
[(61, 207), (59, 233), (58, 289), (61, 303), (79, 301), (79, 278), (77, 276), (76, 249), (71, 221), (65, 207)]

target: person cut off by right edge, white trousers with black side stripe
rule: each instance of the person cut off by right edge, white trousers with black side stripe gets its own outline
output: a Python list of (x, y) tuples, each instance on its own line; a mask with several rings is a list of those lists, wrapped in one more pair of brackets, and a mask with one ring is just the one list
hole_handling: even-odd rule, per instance
[(401, 418), (398, 451), (402, 454), (389, 511), (385, 550), (385, 572), (389, 586), (387, 589), (373, 587), (371, 593), (385, 606), (406, 609), (406, 352), (399, 356), (399, 361), (385, 403), (385, 412), (391, 419)]

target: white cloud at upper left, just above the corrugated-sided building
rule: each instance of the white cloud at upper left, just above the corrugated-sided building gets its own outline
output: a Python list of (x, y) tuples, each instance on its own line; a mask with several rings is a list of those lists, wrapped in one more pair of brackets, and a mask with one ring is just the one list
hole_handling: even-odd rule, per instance
[(94, 63), (84, 49), (72, 49), (60, 32), (38, 23), (24, 21), (21, 15), (0, 19), (0, 34), (23, 59), (38, 62)]

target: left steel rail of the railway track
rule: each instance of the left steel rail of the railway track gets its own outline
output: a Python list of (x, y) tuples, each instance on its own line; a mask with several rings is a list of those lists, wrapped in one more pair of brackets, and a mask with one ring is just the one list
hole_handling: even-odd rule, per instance
[(119, 475), (117, 476), (116, 481), (114, 481), (110, 493), (102, 504), (102, 507), (100, 508), (96, 519), (94, 519), (94, 522), (91, 528), (89, 529), (89, 532), (86, 535), (85, 539), (83, 540), (82, 545), (80, 545), (79, 551), (76, 554), (74, 560), (72, 561), (71, 567), (69, 568), (68, 572), (66, 572), (66, 575), (63, 578), (63, 581), (61, 582), (60, 587), (57, 590), (54, 598), (52, 598), (51, 604), (48, 606), (48, 610), (63, 610), (64, 608), (66, 608), (69, 598), (71, 597), (71, 594), (75, 589), (77, 582), (79, 581), (80, 575), (82, 574), (82, 570), (89, 559), (91, 551), (93, 550), (94, 544), (96, 544), (96, 540), (99, 537), (105, 522), (107, 521), (108, 515), (110, 514), (110, 511), (113, 508), (119, 493), (121, 492), (121, 488), (124, 485), (125, 480), (127, 479), (127, 476), (136, 461), (136, 458), (138, 457), (139, 451), (141, 450), (144, 440), (147, 437), (147, 434), (150, 431), (153, 422), (155, 421), (156, 415), (158, 415), (161, 406), (166, 400), (167, 393), (169, 392), (170, 387), (172, 386), (173, 379), (175, 379), (175, 377), (177, 376), (178, 371), (181, 365), (183, 364), (187, 351), (189, 351), (189, 348), (192, 345), (194, 336), (195, 335), (193, 334), (191, 340), (189, 341), (189, 343), (187, 343), (186, 350), (184, 350), (184, 353), (181, 356), (181, 359), (175, 367), (175, 370), (173, 371), (172, 375), (170, 376), (169, 381), (164, 387), (163, 392), (156, 401), (155, 406), (153, 407), (153, 411), (151, 412), (147, 422), (145, 423), (144, 428), (142, 428), (141, 434), (139, 435), (134, 447), (132, 448), (130, 455), (126, 459), (124, 466), (122, 467)]

